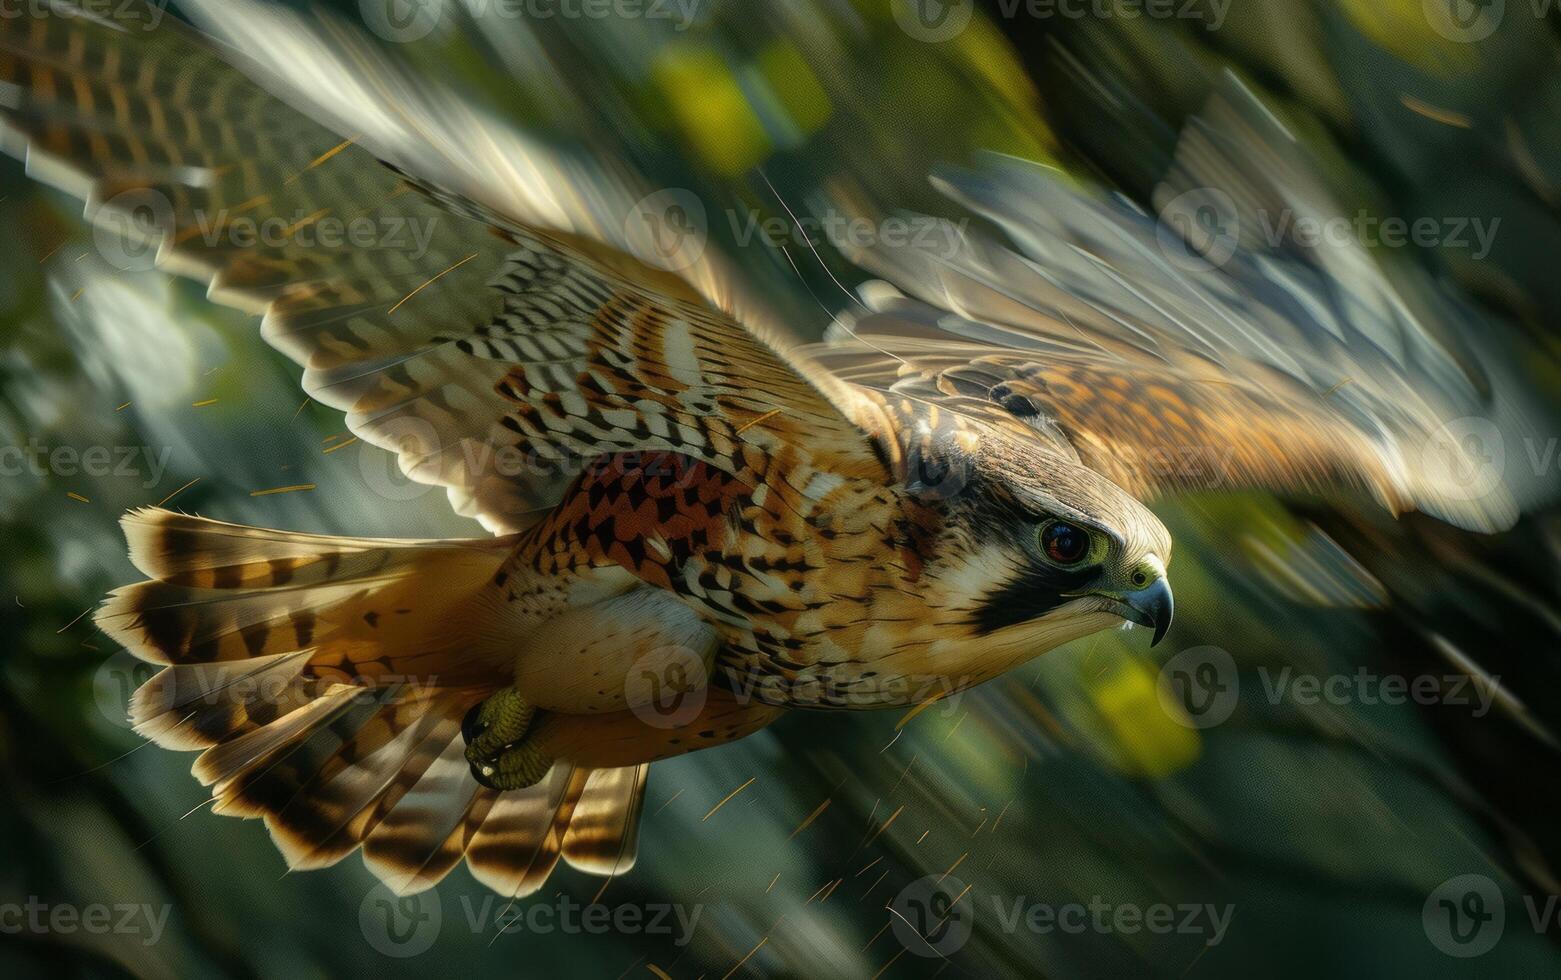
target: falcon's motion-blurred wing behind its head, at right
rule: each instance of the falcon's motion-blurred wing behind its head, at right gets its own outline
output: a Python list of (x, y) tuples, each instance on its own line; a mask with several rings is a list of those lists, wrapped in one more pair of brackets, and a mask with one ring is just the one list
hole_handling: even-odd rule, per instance
[(1332, 217), (1299, 151), (1233, 92), (1183, 136), (1161, 222), (1021, 161), (943, 176), (1018, 250), (951, 223), (938, 248), (859, 256), (905, 292), (865, 287), (869, 312), (812, 356), (879, 399), (1049, 440), (1141, 498), (1364, 490), (1396, 513), (1511, 524), (1525, 488), (1480, 440), (1520, 420), (1463, 339), (1427, 326), (1453, 307), (1358, 245), (1269, 239)]

